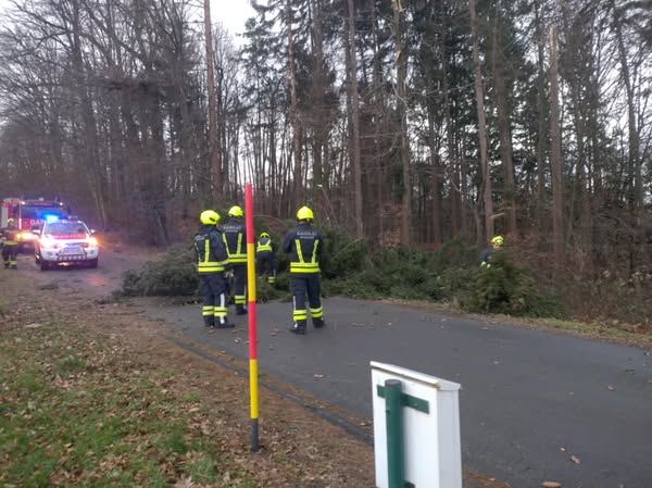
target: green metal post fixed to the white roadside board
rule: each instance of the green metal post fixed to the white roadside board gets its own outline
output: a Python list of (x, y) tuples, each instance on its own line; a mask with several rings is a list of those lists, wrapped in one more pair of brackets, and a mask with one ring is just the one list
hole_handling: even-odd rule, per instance
[(399, 379), (385, 380), (388, 488), (403, 488), (405, 485), (402, 395), (403, 389)]

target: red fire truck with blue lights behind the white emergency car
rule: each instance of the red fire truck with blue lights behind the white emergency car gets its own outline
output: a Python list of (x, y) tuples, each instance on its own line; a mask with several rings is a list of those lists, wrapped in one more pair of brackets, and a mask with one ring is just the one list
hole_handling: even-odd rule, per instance
[(7, 227), (9, 218), (13, 218), (16, 227), (21, 230), (18, 234), (20, 249), (22, 251), (34, 249), (34, 240), (37, 236), (32, 230), (42, 227), (46, 220), (66, 218), (70, 213), (70, 207), (64, 205), (58, 199), (23, 200), (10, 197), (0, 203), (0, 228)]

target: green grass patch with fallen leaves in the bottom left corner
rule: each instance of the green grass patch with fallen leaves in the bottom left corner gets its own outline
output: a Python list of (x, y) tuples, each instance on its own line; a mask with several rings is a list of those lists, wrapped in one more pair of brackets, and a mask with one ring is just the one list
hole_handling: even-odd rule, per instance
[(197, 397), (171, 395), (170, 377), (143, 374), (124, 350), (46, 326), (2, 335), (0, 358), (5, 486), (212, 486), (236, 473), (237, 486), (256, 486), (188, 416)]

